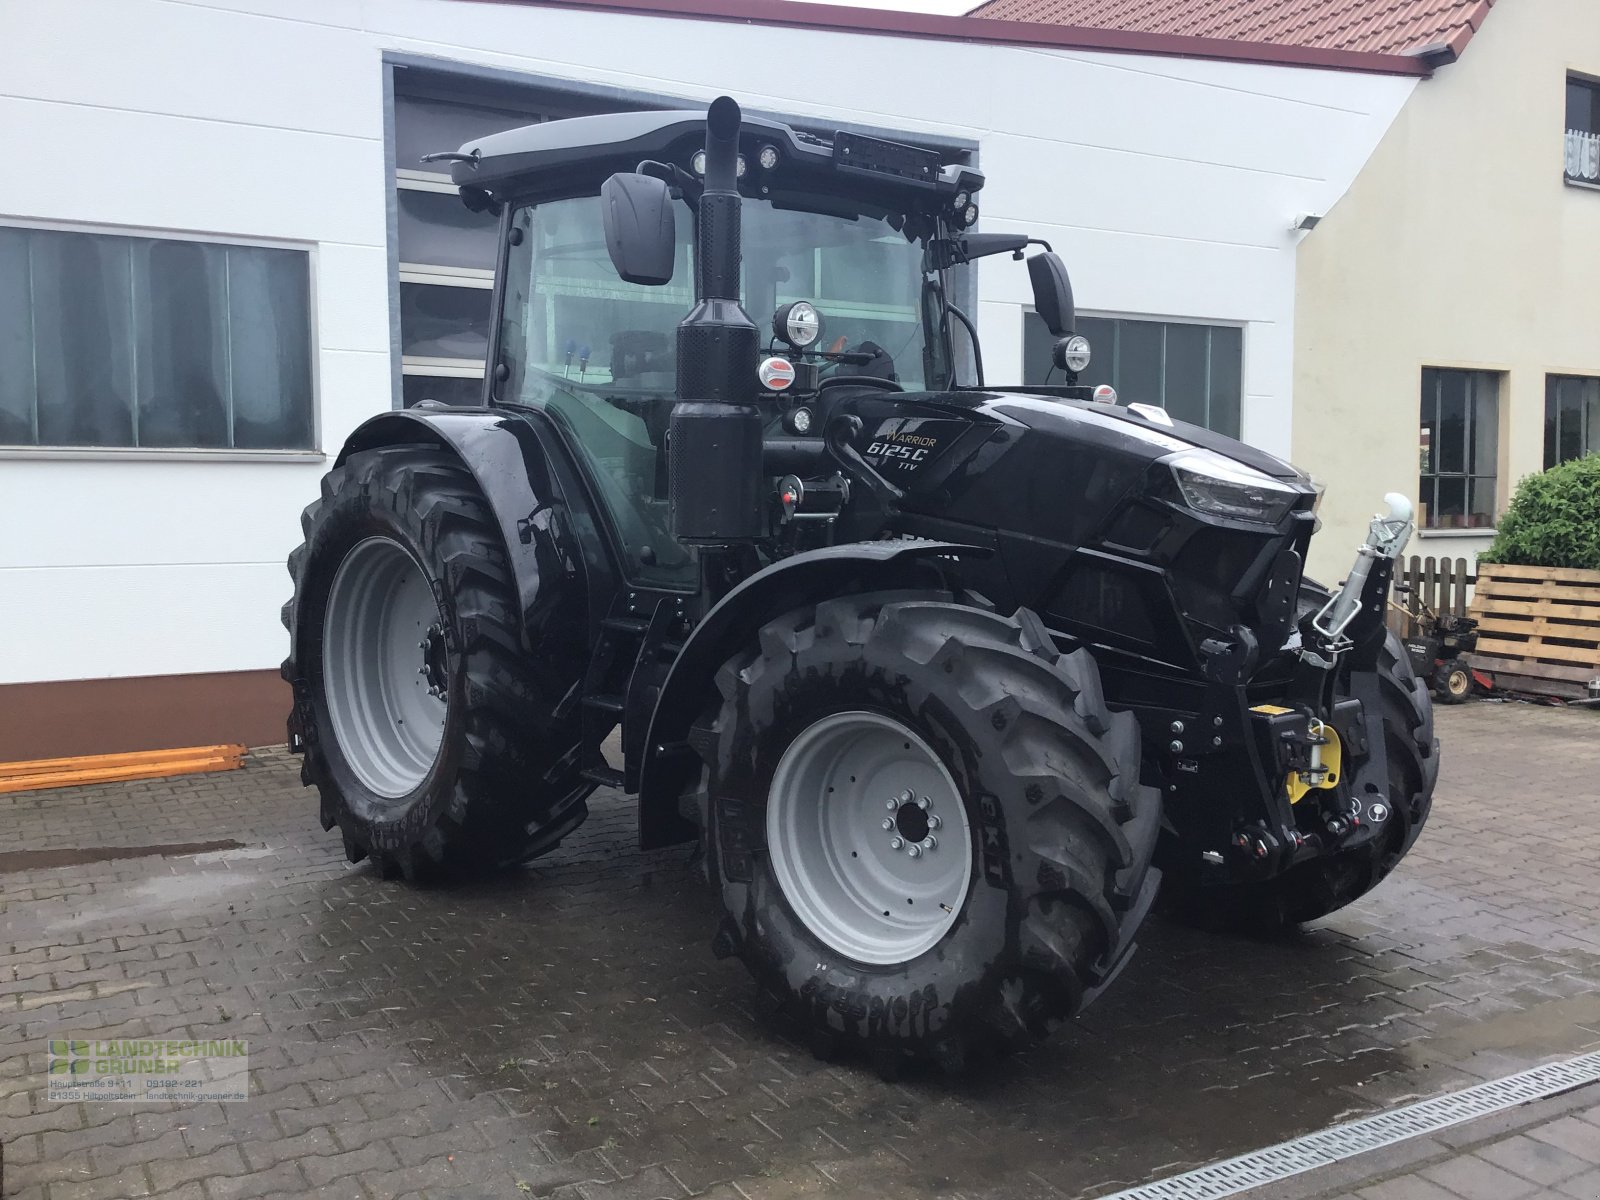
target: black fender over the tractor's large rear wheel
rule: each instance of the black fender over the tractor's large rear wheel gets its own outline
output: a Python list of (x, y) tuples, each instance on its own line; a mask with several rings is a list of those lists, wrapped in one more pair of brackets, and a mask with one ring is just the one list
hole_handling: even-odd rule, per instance
[(555, 603), (571, 603), (571, 589), (582, 597), (582, 610), (594, 576), (611, 576), (603, 558), (586, 562), (586, 544), (594, 555), (603, 555), (605, 544), (597, 536), (582, 536), (592, 517), (586, 509), (574, 512), (570, 502), (582, 491), (574, 493), (563, 480), (565, 459), (560, 451), (547, 451), (547, 435), (531, 414), (499, 408), (382, 413), (350, 434), (338, 462), (362, 450), (397, 445), (437, 445), (472, 474), (499, 525), (517, 581), (525, 640), (544, 624), (544, 614)]

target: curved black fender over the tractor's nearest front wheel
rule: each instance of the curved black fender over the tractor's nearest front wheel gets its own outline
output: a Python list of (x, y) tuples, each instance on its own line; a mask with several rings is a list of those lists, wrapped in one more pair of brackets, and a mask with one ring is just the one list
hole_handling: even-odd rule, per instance
[(638, 840), (643, 850), (688, 842), (694, 824), (678, 798), (699, 773), (690, 728), (717, 699), (717, 670), (742, 646), (754, 646), (768, 621), (829, 597), (902, 587), (958, 587), (960, 558), (990, 549), (922, 539), (850, 542), (782, 558), (744, 579), (690, 634), (667, 674), (650, 717), (638, 784)]

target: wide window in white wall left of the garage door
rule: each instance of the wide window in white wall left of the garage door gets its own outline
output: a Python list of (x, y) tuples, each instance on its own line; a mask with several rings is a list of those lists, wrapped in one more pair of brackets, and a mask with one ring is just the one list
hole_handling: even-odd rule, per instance
[(304, 250), (0, 227), (0, 445), (312, 450)]

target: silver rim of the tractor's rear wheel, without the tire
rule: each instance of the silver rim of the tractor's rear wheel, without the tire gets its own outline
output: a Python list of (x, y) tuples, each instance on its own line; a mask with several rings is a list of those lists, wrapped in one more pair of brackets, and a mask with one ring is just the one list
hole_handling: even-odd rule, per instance
[(386, 798), (416, 790), (445, 739), (450, 659), (427, 576), (398, 542), (368, 538), (339, 563), (322, 656), (350, 770)]

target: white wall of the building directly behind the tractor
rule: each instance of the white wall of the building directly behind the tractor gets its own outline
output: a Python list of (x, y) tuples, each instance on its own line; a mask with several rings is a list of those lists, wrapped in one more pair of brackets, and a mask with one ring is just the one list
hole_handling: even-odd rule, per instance
[[(1291, 438), (1296, 213), (1413, 78), (467, 0), (0, 0), (0, 219), (314, 248), (320, 445), (390, 405), (384, 51), (981, 144), (982, 226), (1085, 312), (1245, 325), (1245, 437)], [(1027, 277), (984, 266), (990, 379)], [(0, 683), (274, 667), (326, 459), (0, 450)]]

